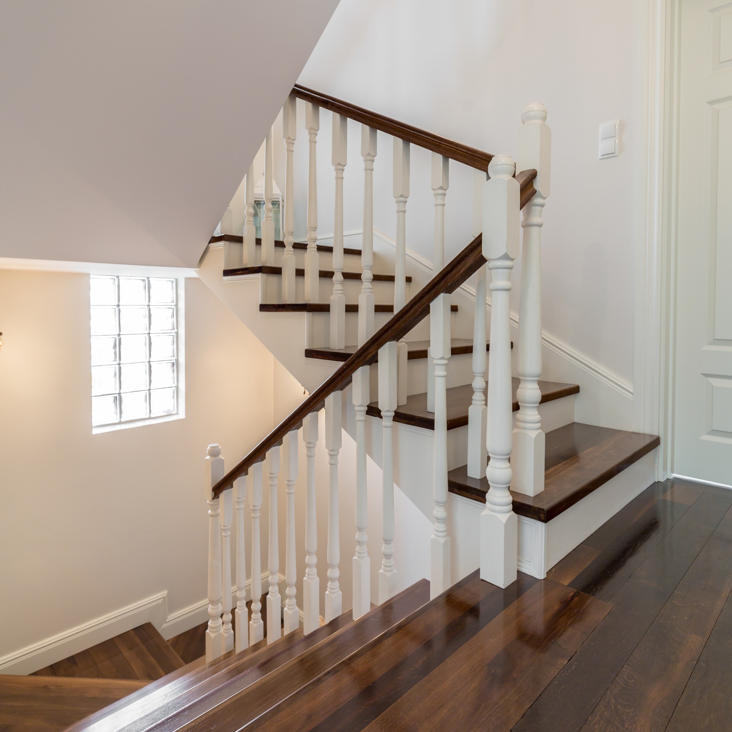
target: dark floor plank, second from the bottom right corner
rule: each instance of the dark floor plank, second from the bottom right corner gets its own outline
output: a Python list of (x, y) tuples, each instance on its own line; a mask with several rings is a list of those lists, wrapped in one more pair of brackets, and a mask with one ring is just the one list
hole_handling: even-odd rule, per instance
[(664, 730), (730, 591), (732, 511), (714, 530), (583, 732)]

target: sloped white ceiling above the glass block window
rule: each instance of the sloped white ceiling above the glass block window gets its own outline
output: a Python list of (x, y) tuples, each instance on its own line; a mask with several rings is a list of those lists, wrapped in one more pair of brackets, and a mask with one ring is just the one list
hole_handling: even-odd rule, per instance
[(337, 1), (0, 3), (0, 257), (196, 266)]

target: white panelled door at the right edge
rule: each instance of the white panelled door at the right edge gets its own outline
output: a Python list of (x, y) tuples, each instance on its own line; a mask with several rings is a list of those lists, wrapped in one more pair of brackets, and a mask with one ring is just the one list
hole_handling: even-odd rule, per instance
[(673, 472), (732, 485), (732, 2), (682, 0)]

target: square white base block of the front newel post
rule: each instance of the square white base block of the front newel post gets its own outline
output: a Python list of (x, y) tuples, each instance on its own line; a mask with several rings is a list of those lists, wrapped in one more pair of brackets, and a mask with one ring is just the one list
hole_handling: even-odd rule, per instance
[(480, 515), (480, 578), (506, 588), (516, 580), (518, 518), (514, 512)]

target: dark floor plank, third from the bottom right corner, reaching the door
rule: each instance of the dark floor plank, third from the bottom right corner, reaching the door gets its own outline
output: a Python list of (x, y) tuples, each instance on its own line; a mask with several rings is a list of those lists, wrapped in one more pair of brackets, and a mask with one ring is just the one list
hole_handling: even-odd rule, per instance
[(732, 506), (706, 491), (613, 595), (613, 610), (515, 726), (577, 732)]

